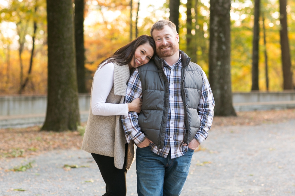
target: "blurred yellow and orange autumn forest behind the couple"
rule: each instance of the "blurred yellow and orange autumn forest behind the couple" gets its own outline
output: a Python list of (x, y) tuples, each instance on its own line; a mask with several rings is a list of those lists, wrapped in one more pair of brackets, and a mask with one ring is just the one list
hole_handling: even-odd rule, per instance
[[(179, 6), (180, 50), (187, 49), (187, 0)], [(138, 7), (139, 6), (139, 7)], [(74, 8), (74, 4), (73, 4)], [(278, 0), (261, 0), (265, 17), (259, 40), (259, 90), (266, 91), (264, 50), (268, 54), (269, 90), (283, 89)], [(130, 18), (130, 11), (132, 17)], [(293, 76), (295, 73), (295, 1), (287, 1), (287, 24)], [(254, 1), (231, 2), (231, 82), (233, 92), (249, 92), (252, 77)], [(87, 0), (84, 8), (85, 81), (90, 92), (98, 64), (154, 22), (169, 20), (169, 1)], [(195, 0), (191, 8), (194, 60), (208, 76), (210, 1)], [(132, 28), (130, 28), (130, 25)], [(131, 30), (132, 29), (132, 30)], [(137, 29), (137, 30), (136, 30)], [(132, 36), (130, 36), (132, 32)], [(34, 51), (32, 56), (34, 41)], [(31, 57), (32, 56), (32, 57)], [(30, 67), (30, 64), (32, 65)], [(47, 21), (45, 0), (0, 0), (0, 95), (47, 93)], [(293, 77), (294, 78), (294, 77)], [(25, 87), (20, 90), (23, 84)], [(294, 79), (293, 79), (294, 84)]]

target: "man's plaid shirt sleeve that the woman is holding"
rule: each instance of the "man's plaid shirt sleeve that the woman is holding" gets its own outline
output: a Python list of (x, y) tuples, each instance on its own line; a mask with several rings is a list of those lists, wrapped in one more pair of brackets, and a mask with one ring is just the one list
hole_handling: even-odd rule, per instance
[[(131, 103), (139, 97), (142, 97), (141, 80), (137, 69), (135, 69), (127, 84), (125, 100), (126, 103)], [(134, 140), (135, 144), (138, 145), (146, 139), (138, 125), (138, 114), (136, 112), (129, 112), (127, 116), (122, 116), (121, 120), (128, 143), (130, 140)]]

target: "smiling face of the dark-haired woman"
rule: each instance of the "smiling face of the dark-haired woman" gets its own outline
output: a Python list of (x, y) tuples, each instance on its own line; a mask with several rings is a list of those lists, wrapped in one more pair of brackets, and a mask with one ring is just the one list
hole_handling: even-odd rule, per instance
[[(141, 65), (147, 64), (152, 56), (154, 55), (154, 50), (150, 44), (142, 44), (138, 46), (135, 50), (134, 56), (130, 62), (130, 68), (137, 68)], [(135, 60), (135, 61), (134, 61)], [(135, 62), (135, 65), (134, 65)]]

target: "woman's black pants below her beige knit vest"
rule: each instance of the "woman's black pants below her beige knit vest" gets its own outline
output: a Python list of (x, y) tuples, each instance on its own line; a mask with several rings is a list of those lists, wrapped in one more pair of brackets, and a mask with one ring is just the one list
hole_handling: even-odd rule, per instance
[[(125, 144), (125, 162), (126, 162), (127, 144)], [(114, 158), (104, 155), (91, 153), (98, 165), (101, 176), (106, 184), (106, 193), (102, 196), (126, 196), (126, 173), (125, 162), (123, 169), (115, 167)]]

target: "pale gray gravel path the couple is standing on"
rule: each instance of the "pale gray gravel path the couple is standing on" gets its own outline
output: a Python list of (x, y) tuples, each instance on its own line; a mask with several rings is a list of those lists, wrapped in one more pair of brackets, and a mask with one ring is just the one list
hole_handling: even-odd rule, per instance
[[(33, 161), (24, 172), (5, 171)], [(182, 195), (295, 195), (295, 120), (257, 126), (213, 127), (192, 158)], [(70, 170), (64, 164), (76, 164)], [(91, 155), (54, 150), (0, 160), (0, 195), (96, 195), (105, 184)], [(135, 164), (127, 195), (136, 193)], [(23, 189), (25, 191), (16, 191)]]

